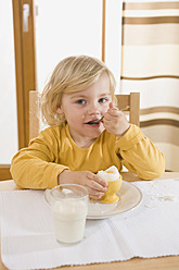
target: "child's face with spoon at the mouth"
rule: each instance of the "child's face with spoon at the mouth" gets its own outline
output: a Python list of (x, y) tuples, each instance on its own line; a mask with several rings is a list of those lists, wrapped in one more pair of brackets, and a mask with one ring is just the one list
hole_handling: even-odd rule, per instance
[(104, 131), (103, 123), (92, 124), (107, 111), (112, 101), (110, 79), (103, 72), (99, 79), (85, 90), (64, 94), (57, 113), (64, 113), (73, 139), (95, 139)]

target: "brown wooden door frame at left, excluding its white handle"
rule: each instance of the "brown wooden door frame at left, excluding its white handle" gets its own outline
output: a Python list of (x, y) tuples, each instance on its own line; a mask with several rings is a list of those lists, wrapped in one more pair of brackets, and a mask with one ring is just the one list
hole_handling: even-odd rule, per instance
[[(28, 32), (24, 32), (23, 8), (29, 4)], [(35, 7), (34, 0), (12, 0), (18, 149), (29, 140), (29, 90), (36, 90)], [(12, 179), (10, 164), (0, 165), (0, 180)]]

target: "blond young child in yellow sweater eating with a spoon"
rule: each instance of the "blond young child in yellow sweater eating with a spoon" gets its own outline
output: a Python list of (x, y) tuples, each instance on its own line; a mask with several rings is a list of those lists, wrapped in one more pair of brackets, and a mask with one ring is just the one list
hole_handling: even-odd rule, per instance
[(124, 164), (143, 180), (159, 177), (165, 170), (163, 154), (114, 106), (114, 90), (112, 72), (98, 59), (62, 60), (41, 97), (50, 127), (13, 157), (15, 183), (25, 188), (77, 183), (99, 199), (107, 184), (95, 173), (111, 165), (122, 171)]

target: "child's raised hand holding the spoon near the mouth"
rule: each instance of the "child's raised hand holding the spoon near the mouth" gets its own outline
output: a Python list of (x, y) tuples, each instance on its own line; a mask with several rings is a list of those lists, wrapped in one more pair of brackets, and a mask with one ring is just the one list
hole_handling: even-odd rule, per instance
[(122, 137), (130, 126), (126, 115), (113, 107), (112, 102), (110, 102), (110, 109), (104, 114), (103, 124), (108, 133), (116, 135), (118, 138)]

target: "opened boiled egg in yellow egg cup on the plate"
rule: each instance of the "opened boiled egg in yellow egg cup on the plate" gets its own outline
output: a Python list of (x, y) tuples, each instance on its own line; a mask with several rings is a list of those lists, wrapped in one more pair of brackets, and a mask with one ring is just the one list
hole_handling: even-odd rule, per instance
[(122, 175), (119, 174), (115, 165), (110, 167), (105, 171), (99, 171), (97, 173), (101, 179), (105, 180), (108, 184), (107, 191), (101, 197), (101, 201), (104, 204), (114, 204), (119, 200), (119, 197), (116, 193), (122, 186)]

